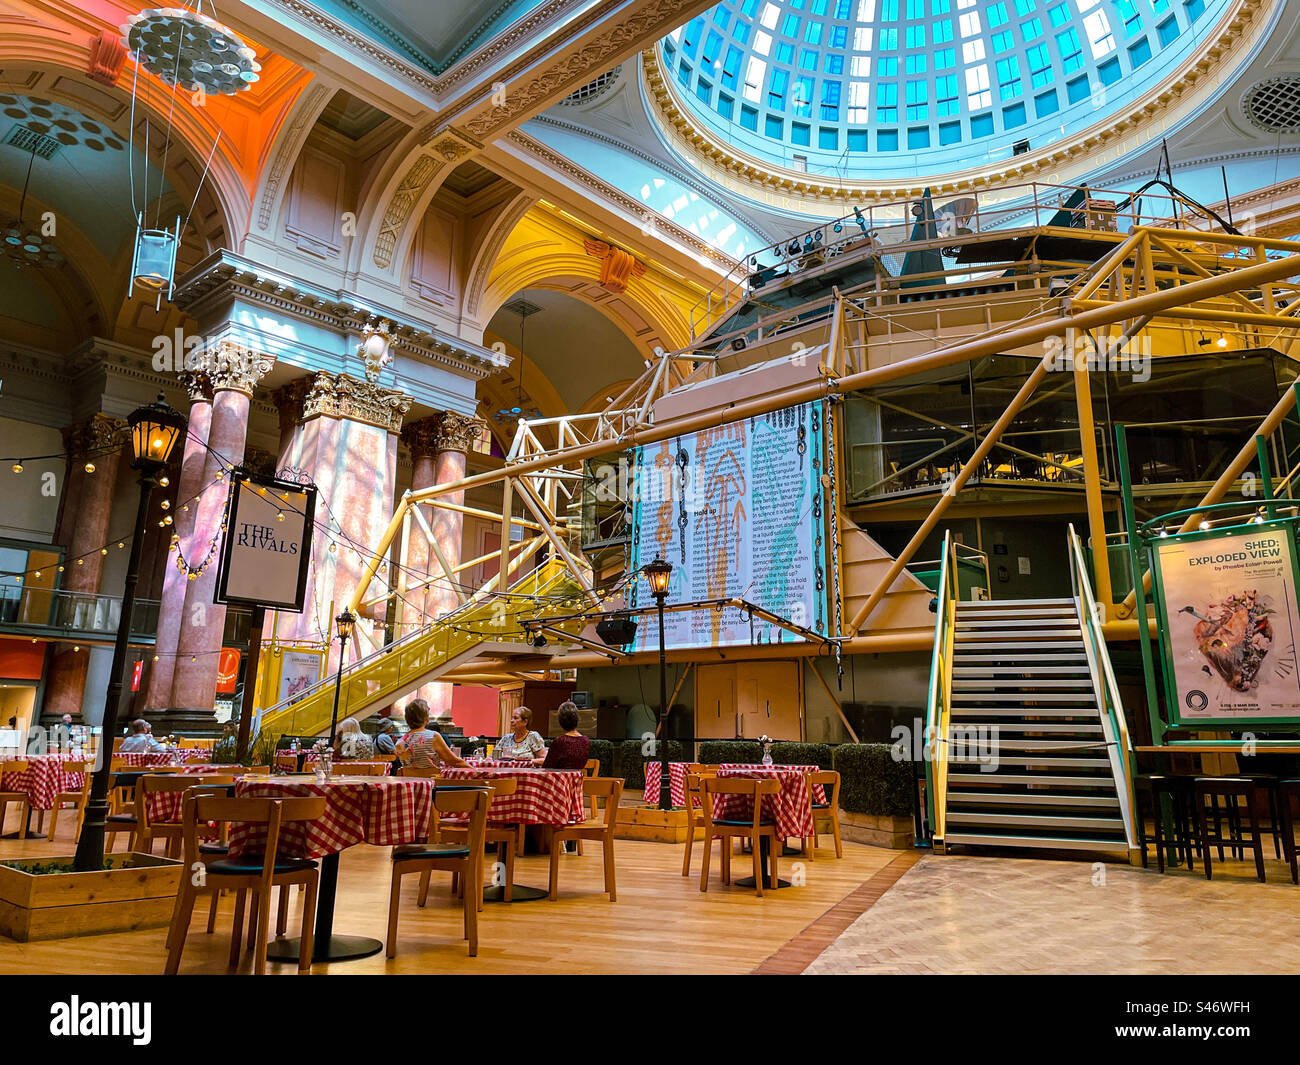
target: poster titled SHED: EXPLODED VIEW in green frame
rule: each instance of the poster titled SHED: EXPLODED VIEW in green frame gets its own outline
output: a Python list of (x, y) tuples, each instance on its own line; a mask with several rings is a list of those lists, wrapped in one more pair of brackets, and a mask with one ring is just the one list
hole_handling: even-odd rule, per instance
[(1300, 718), (1295, 540), (1287, 524), (1157, 541), (1178, 717)]

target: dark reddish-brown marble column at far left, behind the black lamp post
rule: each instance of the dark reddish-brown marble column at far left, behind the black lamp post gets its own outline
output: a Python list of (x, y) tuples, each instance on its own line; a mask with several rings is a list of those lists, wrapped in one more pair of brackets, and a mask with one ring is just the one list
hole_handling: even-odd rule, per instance
[[(108, 542), (125, 429), (126, 423), (121, 419), (96, 414), (64, 430), (64, 449), (68, 453), (64, 493), (68, 499), (60, 515), (60, 525), (64, 528), (56, 531), (56, 540), (68, 547), (60, 581), (64, 590), (91, 594), (100, 590), (104, 575), (100, 549)], [(86, 472), (87, 462), (94, 463), (94, 473)], [(42, 720), (57, 720), (64, 714), (72, 714), (77, 722), (82, 720), (90, 650), (73, 650), (73, 646), (56, 645), (58, 649), (46, 681)]]

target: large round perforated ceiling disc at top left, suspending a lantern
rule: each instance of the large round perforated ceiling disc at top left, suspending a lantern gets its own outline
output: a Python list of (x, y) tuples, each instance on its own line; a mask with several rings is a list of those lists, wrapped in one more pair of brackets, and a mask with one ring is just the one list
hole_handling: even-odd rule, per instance
[(229, 26), (185, 8), (148, 8), (121, 26), (122, 46), (165, 85), (233, 96), (261, 65)]

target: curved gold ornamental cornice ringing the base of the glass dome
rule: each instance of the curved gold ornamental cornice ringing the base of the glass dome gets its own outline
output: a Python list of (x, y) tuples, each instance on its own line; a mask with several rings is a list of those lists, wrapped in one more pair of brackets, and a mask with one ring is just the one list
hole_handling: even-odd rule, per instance
[(1136, 129), (1161, 121), (1170, 101), (1191, 95), (1206, 79), (1214, 82), (1219, 75), (1219, 65), (1226, 60), (1239, 57), (1242, 38), (1247, 29), (1258, 18), (1266, 17), (1271, 7), (1269, 0), (1239, 0), (1236, 7), (1221, 21), (1218, 33), (1206, 38), (1174, 77), (1143, 96), (1126, 113), (1114, 114), (1104, 124), (1097, 124), (1066, 140), (1056, 142), (1050, 150), (1014, 156), (1014, 161), (1009, 160), (1001, 165), (936, 174), (930, 179), (919, 179), (919, 183), (914, 185), (863, 181), (835, 182), (831, 177), (816, 181), (809, 174), (785, 170), (757, 156), (740, 152), (696, 122), (680, 104), (676, 88), (663, 75), (655, 46), (641, 53), (642, 85), (651, 113), (659, 120), (664, 134), (676, 134), (675, 150), (688, 156), (694, 155), (696, 165), (706, 173), (707, 168), (716, 168), (737, 185), (748, 186), (751, 196), (762, 198), (775, 191), (828, 205), (846, 202), (863, 205), (888, 203), (918, 196), (926, 185), (932, 186), (936, 192), (941, 191), (946, 195), (1035, 179), (1041, 181), (1063, 164), (1078, 160), (1080, 156), (1096, 156), (1104, 148), (1132, 138)]

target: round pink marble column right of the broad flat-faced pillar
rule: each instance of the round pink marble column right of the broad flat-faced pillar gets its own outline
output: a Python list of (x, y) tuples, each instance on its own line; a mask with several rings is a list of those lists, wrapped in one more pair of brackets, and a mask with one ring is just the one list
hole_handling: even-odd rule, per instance
[[(481, 434), (482, 427), (484, 423), (480, 419), (468, 417), (455, 411), (446, 411), (436, 417), (426, 417), (406, 427), (402, 436), (411, 449), (415, 464), (411, 488), (419, 492), (421, 488), (463, 479), (465, 476), (465, 455)], [(441, 498), (448, 503), (463, 505), (465, 494), (452, 492)], [(433, 540), (442, 557), (448, 566), (458, 566), (462, 554), (464, 515), (433, 506), (425, 506), (421, 511), (429, 521)], [(413, 524), (411, 528), (407, 566), (411, 568), (411, 573), (407, 576), (408, 583), (416, 580), (416, 572), (442, 576), (438, 557), (425, 540), (424, 531), (419, 524)], [(464, 575), (458, 577), (458, 583), (464, 583)], [(428, 622), (436, 622), (443, 614), (455, 610), (459, 603), (455, 588), (446, 579), (429, 585), (421, 597), (408, 596), (407, 598), (412, 606), (420, 606)], [(419, 696), (428, 700), (433, 717), (447, 720), (451, 718), (451, 690), (450, 684), (433, 683), (421, 688)]]

